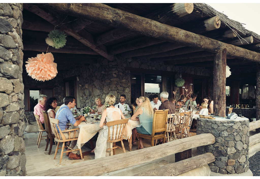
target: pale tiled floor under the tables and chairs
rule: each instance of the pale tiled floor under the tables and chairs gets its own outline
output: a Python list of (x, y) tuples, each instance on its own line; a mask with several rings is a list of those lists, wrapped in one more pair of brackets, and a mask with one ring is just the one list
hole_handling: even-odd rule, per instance
[[(27, 125), (27, 123), (25, 123), (25, 128), (26, 128), (26, 125)], [(61, 149), (58, 150), (56, 159), (54, 160), (53, 158), (54, 158), (54, 153), (55, 153), (55, 149), (56, 149), (55, 144), (52, 147), (51, 154), (48, 155), (49, 147), (48, 147), (47, 151), (45, 151), (46, 142), (44, 140), (41, 140), (39, 148), (36, 145), (38, 134), (39, 134), (38, 132), (37, 133), (24, 132), (26, 174), (34, 173), (37, 171), (48, 170), (51, 168), (61, 167), (61, 166), (65, 166), (65, 165), (70, 165), (72, 163), (81, 162), (81, 160), (69, 160), (68, 157), (66, 157), (65, 154), (63, 154), (61, 165), (59, 165)], [(43, 133), (43, 136), (44, 135), (46, 135), (46, 133)], [(191, 133), (191, 135), (192, 136), (196, 135), (196, 133)], [(128, 141), (123, 140), (123, 142), (124, 142), (124, 145), (126, 148), (126, 152), (129, 152)], [(118, 146), (121, 146), (120, 142), (118, 143)], [(136, 150), (136, 147), (137, 146), (134, 145), (132, 147), (132, 151)], [(144, 147), (145, 148), (150, 147), (150, 141), (144, 140)], [(90, 148), (87, 147), (86, 145), (84, 145), (82, 147), (82, 152), (89, 151), (89, 150), (90, 150)], [(196, 152), (196, 149), (192, 149), (192, 156), (196, 155), (195, 152)], [(123, 153), (122, 149), (117, 148), (116, 154), (120, 154), (120, 153)], [(93, 160), (94, 158), (95, 158), (94, 154), (89, 154), (87, 156), (84, 156), (84, 161)], [(155, 160), (150, 163), (141, 164), (138, 166), (129, 167), (129, 168), (125, 168), (122, 170), (110, 172), (110, 173), (104, 174), (102, 176), (133, 176), (133, 175), (139, 173), (140, 171), (155, 169), (155, 168), (158, 168), (158, 167), (161, 167), (168, 163), (173, 163), (173, 162), (174, 162), (174, 155), (167, 156), (167, 157), (164, 157), (159, 160)]]

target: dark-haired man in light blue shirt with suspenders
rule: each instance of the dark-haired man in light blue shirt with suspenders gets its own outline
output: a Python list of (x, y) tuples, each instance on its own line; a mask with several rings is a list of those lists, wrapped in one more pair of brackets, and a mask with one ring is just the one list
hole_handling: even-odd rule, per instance
[[(61, 130), (65, 130), (66, 129), (66, 125), (67, 123), (72, 123), (73, 126), (78, 126), (81, 121), (84, 121), (85, 118), (84, 116), (79, 116), (77, 118), (73, 117), (72, 112), (70, 111), (71, 108), (74, 108), (74, 106), (76, 105), (75, 103), (75, 98), (72, 96), (66, 96), (64, 99), (64, 104), (65, 106), (59, 109), (59, 112), (56, 113), (55, 118), (59, 120), (59, 127)], [(57, 128), (58, 129), (58, 128)], [(59, 129), (58, 129), (59, 132)], [(66, 139), (69, 139), (69, 132), (63, 132), (64, 136), (66, 137)], [(70, 133), (70, 138), (73, 138), (74, 136), (74, 132)], [(79, 136), (79, 132), (76, 132), (75, 137)], [(61, 135), (60, 135), (61, 137)], [(76, 146), (77, 141), (71, 141), (70, 147), (73, 149), (77, 149), (78, 147)], [(84, 145), (81, 144), (81, 147)], [(70, 150), (70, 149), (68, 149)], [(77, 151), (73, 151), (73, 152), (68, 152), (66, 153), (66, 156), (69, 156), (69, 159), (81, 159), (81, 156), (77, 154)], [(84, 156), (83, 156), (84, 157)]]

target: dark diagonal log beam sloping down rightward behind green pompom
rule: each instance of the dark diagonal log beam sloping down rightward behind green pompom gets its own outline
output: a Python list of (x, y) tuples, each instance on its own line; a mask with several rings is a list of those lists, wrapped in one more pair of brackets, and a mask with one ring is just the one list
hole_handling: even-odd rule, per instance
[(100, 54), (101, 56), (105, 57), (106, 59), (113, 61), (115, 58), (114, 56), (110, 56), (107, 54), (105, 46), (96, 46), (94, 44), (94, 39), (90, 33), (85, 31), (84, 29), (80, 30), (79, 32), (75, 32), (69, 25), (61, 24), (57, 18), (50, 16), (46, 11), (39, 8), (38, 6), (32, 4), (23, 4), (24, 9), (35, 13), (36, 15), (42, 17), (43, 19), (47, 20), (49, 23), (53, 25), (59, 25), (56, 28), (63, 30), (68, 35), (73, 36), (75, 39), (79, 40), (84, 45), (90, 47), (92, 50)]

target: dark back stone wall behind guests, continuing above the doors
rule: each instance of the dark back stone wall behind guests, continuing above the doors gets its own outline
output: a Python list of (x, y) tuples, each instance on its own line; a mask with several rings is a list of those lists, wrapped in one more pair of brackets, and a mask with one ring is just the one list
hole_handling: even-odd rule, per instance
[[(163, 62), (151, 62), (146, 59), (132, 60), (131, 58), (119, 59), (115, 61), (102, 60), (100, 63), (91, 64), (88, 67), (71, 70), (71, 73), (63, 73), (64, 78), (80, 76), (80, 104), (81, 106), (93, 106), (94, 99), (100, 97), (102, 104), (107, 94), (113, 94), (116, 97), (116, 103), (120, 102), (121, 94), (126, 95), (126, 104), (130, 105), (130, 71), (125, 67), (134, 67), (140, 69), (149, 69), (181, 73), (190, 72), (191, 74), (209, 76), (210, 70), (198, 67), (164, 65)], [(176, 87), (178, 91), (178, 87)], [(178, 97), (178, 96), (177, 96)]]

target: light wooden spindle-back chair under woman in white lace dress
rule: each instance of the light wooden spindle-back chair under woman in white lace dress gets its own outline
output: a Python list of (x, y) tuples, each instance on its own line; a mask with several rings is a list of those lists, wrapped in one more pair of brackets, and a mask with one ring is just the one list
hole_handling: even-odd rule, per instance
[[(116, 148), (120, 148), (123, 150), (124, 153), (126, 153), (125, 146), (123, 143), (123, 133), (125, 131), (127, 122), (128, 119), (121, 119), (121, 120), (110, 121), (106, 123), (108, 127), (107, 142), (110, 143), (110, 148), (108, 148), (107, 151), (110, 151), (110, 155), (115, 155)], [(116, 127), (116, 131), (115, 131), (115, 127)], [(121, 141), (122, 147), (115, 145), (115, 143), (119, 141)]]

